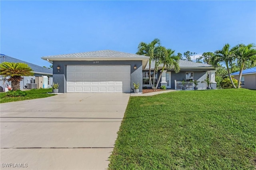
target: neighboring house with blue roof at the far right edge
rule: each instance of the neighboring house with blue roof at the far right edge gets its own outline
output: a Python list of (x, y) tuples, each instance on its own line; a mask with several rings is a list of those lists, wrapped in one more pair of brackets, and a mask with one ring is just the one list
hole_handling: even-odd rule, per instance
[[(239, 79), (239, 71), (231, 73), (235, 79)], [(256, 67), (242, 71), (241, 86), (245, 89), (256, 89)]]

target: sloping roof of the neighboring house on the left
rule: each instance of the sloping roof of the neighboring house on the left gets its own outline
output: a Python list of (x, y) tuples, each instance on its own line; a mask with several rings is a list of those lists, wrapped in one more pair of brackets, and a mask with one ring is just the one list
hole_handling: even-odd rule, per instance
[(9, 62), (9, 63), (26, 63), (28, 64), (28, 66), (33, 70), (33, 73), (37, 73), (37, 74), (46, 74), (46, 75), (52, 75), (52, 70), (45, 68), (45, 67), (41, 67), (39, 65), (35, 65), (32, 63), (28, 63), (26, 61), (22, 61), (20, 59), (16, 59), (13, 57), (10, 57), (8, 55), (4, 55), (4, 54), (0, 54), (0, 62)]

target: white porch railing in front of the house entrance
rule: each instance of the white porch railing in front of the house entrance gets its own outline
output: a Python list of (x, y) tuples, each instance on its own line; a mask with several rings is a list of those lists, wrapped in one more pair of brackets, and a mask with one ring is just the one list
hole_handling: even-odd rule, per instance
[[(194, 83), (193, 82), (190, 82), (190, 81), (176, 81), (174, 80), (174, 84), (175, 84), (175, 90), (194, 90)], [(199, 82), (197, 87), (198, 87), (198, 90), (204, 90), (206, 89), (206, 86), (207, 84), (204, 82), (204, 83), (201, 83)]]

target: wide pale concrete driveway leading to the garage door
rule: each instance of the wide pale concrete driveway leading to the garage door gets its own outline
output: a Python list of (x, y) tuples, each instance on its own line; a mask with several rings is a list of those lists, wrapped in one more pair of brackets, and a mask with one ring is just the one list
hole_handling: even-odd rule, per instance
[(108, 168), (129, 97), (66, 93), (0, 104), (1, 169)]

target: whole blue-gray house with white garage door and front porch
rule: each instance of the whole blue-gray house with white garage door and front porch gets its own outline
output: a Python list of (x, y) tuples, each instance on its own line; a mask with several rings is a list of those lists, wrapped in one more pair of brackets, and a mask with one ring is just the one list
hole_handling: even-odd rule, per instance
[[(53, 62), (53, 81), (59, 83), (59, 93), (130, 93), (133, 83), (140, 83), (139, 92), (143, 86), (149, 86), (149, 57), (144, 55), (102, 50), (42, 59)], [(154, 64), (151, 67), (154, 68)], [(204, 81), (208, 71), (212, 88), (216, 89), (215, 69), (211, 65), (180, 61), (180, 67), (180, 73), (165, 70), (161, 85), (174, 89), (174, 80)]]

